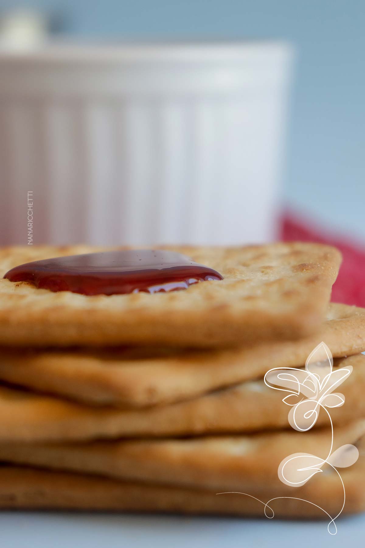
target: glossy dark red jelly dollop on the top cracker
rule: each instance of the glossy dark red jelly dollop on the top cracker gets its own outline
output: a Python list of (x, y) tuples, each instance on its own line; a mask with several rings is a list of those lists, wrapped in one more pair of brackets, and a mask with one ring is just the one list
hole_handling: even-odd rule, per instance
[(134, 249), (27, 262), (9, 270), (4, 278), (55, 292), (114, 295), (176, 291), (223, 276), (180, 253)]

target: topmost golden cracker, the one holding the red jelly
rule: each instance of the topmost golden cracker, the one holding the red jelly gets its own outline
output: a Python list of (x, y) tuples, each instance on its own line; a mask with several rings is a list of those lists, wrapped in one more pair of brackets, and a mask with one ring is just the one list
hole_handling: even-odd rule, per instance
[[(109, 296), (53, 293), (0, 279), (0, 344), (204, 347), (296, 339), (319, 327), (341, 261), (337, 249), (311, 243), (167, 249), (224, 279), (178, 292)], [(24, 262), (95, 250), (3, 248), (0, 276)]]

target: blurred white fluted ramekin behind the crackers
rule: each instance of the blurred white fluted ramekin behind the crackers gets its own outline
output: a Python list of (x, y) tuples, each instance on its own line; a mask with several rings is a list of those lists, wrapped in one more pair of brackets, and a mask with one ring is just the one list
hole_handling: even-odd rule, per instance
[(291, 50), (279, 43), (0, 52), (2, 244), (276, 236)]

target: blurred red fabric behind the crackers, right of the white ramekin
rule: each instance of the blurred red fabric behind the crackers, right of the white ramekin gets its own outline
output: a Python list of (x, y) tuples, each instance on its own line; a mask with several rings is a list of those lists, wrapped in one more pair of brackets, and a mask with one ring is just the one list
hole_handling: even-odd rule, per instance
[(308, 222), (298, 221), (292, 214), (282, 220), (282, 240), (285, 242), (319, 242), (337, 247), (343, 262), (332, 289), (332, 301), (365, 307), (365, 246), (351, 243), (340, 236), (330, 236)]

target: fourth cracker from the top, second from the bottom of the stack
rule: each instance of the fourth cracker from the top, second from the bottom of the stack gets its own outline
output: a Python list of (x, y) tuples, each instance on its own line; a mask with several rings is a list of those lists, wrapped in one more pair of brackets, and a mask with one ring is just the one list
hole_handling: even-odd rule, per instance
[[(334, 431), (333, 450), (365, 434), (361, 419)], [(91, 443), (0, 444), (0, 461), (119, 479), (221, 491), (287, 493), (277, 468), (293, 453), (326, 459), (331, 429), (241, 436), (98, 441)]]

